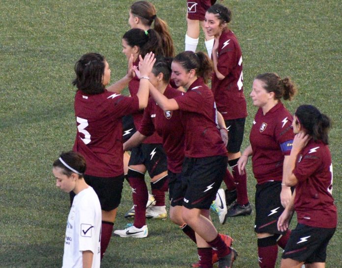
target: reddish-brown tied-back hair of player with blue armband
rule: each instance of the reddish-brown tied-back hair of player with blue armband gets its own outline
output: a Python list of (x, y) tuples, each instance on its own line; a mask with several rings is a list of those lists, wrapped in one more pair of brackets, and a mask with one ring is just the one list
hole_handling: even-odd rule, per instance
[(257, 80), (264, 83), (263, 88), (268, 92), (274, 92), (276, 100), (292, 100), (298, 89), (289, 77), (281, 79), (276, 73), (264, 73), (256, 76)]

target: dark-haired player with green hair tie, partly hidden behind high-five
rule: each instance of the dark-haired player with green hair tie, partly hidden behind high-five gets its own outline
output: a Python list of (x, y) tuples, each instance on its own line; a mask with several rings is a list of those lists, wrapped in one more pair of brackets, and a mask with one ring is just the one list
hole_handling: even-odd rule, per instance
[[(133, 54), (134, 66), (138, 65), (139, 55), (142, 57), (149, 51), (155, 54), (162, 54), (161, 41), (157, 32), (153, 29), (144, 31), (140, 28), (133, 28), (127, 31), (122, 38), (122, 52), (128, 57)], [(131, 96), (137, 94), (139, 79), (136, 77), (129, 82), (128, 88)], [(143, 112), (133, 113), (134, 125), (138, 129), (142, 121)], [(144, 142), (132, 148), (128, 162), (128, 180), (132, 188), (134, 207), (128, 212), (134, 215), (134, 223), (130, 226), (129, 232), (123, 230), (114, 231), (115, 235), (121, 237), (144, 238), (148, 235), (146, 218), (165, 219), (167, 217), (165, 206), (165, 192), (168, 190), (168, 171), (166, 154), (162, 146), (162, 138), (153, 134)], [(144, 180), (145, 173), (151, 178), (152, 194), (156, 204), (146, 210), (148, 191)], [(126, 216), (127, 217), (127, 216)], [(134, 233), (134, 234), (133, 234)]]

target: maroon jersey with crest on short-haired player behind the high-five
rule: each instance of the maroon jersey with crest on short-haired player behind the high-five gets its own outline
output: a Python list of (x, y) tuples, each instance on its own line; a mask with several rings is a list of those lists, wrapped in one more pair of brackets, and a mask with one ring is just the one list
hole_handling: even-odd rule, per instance
[[(172, 99), (183, 93), (168, 85), (164, 95)], [(182, 171), (184, 160), (184, 128), (181, 123), (181, 111), (163, 111), (153, 99), (149, 99), (143, 112), (139, 132), (150, 136), (157, 131), (163, 138), (163, 148), (168, 158), (168, 169), (173, 173)]]

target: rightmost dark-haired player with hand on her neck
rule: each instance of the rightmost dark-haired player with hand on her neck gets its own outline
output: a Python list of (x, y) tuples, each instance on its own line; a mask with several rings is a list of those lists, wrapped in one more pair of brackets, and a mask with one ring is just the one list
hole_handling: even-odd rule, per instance
[(286, 231), (295, 210), (298, 224), (286, 244), (282, 268), (324, 268), (327, 245), (337, 226), (332, 196), (333, 165), (328, 147), (330, 119), (312, 105), (302, 105), (293, 116), (295, 135), (284, 167), (284, 183), (295, 186), (285, 211), (278, 219)]

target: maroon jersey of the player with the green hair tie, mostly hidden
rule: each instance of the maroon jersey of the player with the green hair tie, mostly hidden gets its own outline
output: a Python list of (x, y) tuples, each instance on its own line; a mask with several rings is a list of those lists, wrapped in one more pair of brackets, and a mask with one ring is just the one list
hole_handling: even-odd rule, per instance
[[(133, 63), (134, 66), (138, 66), (139, 58)], [(139, 79), (135, 76), (128, 84), (129, 93), (131, 96), (137, 96), (139, 90)], [(143, 110), (139, 110), (138, 112), (132, 113), (134, 126), (136, 129), (139, 129), (140, 124), (142, 122)], [(162, 143), (163, 139), (156, 132), (151, 136), (147, 137), (142, 143)]]

